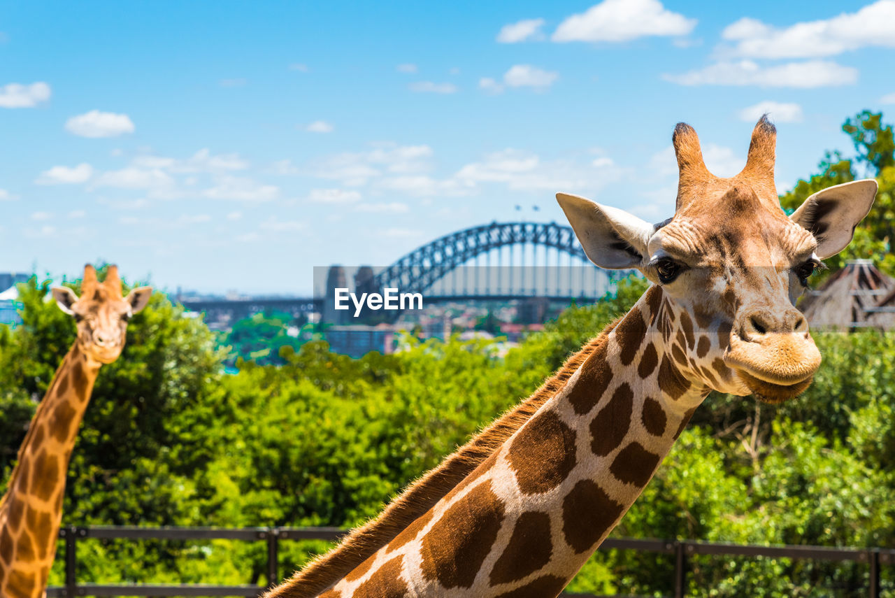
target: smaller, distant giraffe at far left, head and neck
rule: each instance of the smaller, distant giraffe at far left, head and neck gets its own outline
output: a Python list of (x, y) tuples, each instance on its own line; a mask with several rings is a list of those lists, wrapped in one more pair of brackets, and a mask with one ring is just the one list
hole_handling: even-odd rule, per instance
[(121, 355), (127, 321), (146, 306), (152, 289), (140, 286), (122, 297), (117, 267), (109, 266), (100, 283), (88, 264), (80, 298), (65, 286), (54, 287), (52, 293), (59, 308), (77, 322), (78, 336), (40, 401), (0, 499), (4, 598), (45, 595), (62, 523), (65, 472), (81, 417), (100, 366)]

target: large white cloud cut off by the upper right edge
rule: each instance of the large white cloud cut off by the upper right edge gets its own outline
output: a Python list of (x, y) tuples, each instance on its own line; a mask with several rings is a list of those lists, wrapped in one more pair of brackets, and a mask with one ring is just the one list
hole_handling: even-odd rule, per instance
[(736, 43), (720, 51), (753, 58), (807, 58), (836, 56), (860, 47), (895, 47), (892, 22), (895, 0), (879, 0), (857, 13), (798, 22), (783, 29), (745, 17), (721, 32), (722, 38)]

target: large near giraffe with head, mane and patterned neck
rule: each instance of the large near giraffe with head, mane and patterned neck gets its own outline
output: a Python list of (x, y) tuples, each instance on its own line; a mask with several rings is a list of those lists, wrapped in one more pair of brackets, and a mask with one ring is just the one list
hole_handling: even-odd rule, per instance
[(672, 144), (678, 196), (660, 224), (557, 194), (591, 261), (652, 282), (635, 306), (266, 598), (557, 596), (712, 389), (780, 403), (811, 384), (821, 355), (794, 304), (851, 241), (876, 182), (814, 193), (787, 217), (765, 116), (730, 178), (704, 166), (689, 125)]

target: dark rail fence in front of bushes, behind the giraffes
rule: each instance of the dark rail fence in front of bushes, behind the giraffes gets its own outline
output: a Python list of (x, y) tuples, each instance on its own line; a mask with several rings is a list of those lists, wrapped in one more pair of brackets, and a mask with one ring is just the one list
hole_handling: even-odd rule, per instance
[[(75, 596), (259, 596), (263, 585), (158, 585), (158, 584), (79, 584), (77, 543), (88, 538), (126, 540), (243, 540), (266, 542), (267, 578), (279, 583), (277, 568), (279, 542), (296, 540), (338, 540), (346, 533), (337, 527), (138, 527), (132, 525), (70, 526), (59, 530), (64, 540), (65, 585), (47, 588), (47, 598)], [(821, 561), (852, 561), (869, 568), (870, 598), (880, 596), (880, 567), (895, 565), (895, 550), (879, 548), (827, 548), (823, 546), (756, 546), (695, 542), (691, 540), (640, 540), (609, 538), (600, 550), (643, 551), (674, 555), (674, 598), (686, 595), (687, 560), (695, 555), (770, 557)], [(580, 598), (598, 598), (575, 594)]]

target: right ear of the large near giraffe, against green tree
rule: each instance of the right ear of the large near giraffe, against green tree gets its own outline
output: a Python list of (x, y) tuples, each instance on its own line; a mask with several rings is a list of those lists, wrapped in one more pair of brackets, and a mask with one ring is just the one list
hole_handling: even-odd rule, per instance
[(855, 227), (874, 205), (874, 179), (827, 187), (805, 200), (789, 218), (817, 239), (817, 256), (836, 255), (851, 243)]

